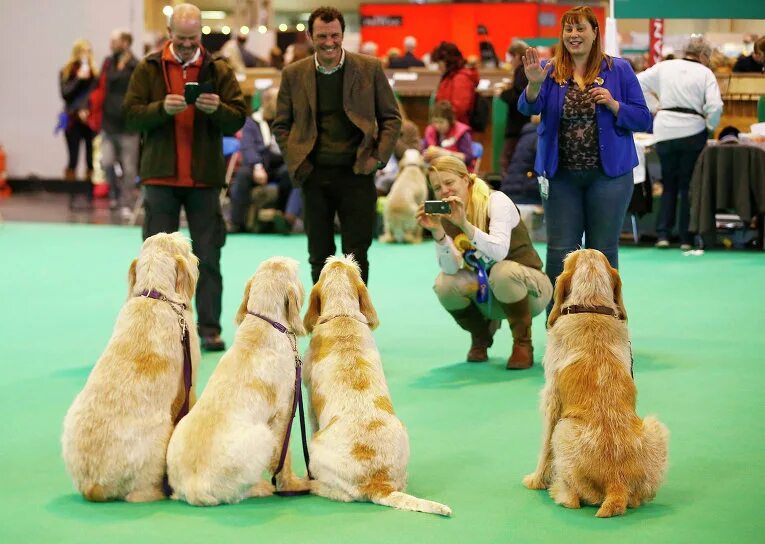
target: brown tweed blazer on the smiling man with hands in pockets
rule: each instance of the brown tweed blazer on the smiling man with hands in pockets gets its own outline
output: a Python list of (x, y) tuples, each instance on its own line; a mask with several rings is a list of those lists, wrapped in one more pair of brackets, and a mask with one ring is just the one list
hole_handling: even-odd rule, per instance
[[(345, 52), (343, 109), (363, 137), (353, 171), (369, 157), (387, 163), (401, 131), (401, 113), (380, 61)], [(293, 183), (300, 187), (313, 170), (309, 154), (318, 129), (314, 57), (288, 65), (282, 72), (272, 132)]]

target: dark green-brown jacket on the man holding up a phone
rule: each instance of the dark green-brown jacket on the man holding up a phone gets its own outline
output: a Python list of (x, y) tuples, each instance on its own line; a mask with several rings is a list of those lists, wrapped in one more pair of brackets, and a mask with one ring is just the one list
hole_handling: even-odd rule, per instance
[[(195, 112), (191, 177), (195, 184), (220, 187), (226, 175), (223, 136), (233, 135), (242, 127), (247, 106), (226, 61), (211, 59), (205, 54), (198, 79), (200, 84), (212, 82), (220, 105), (209, 115)], [(176, 175), (175, 123), (163, 107), (166, 95), (161, 52), (153, 53), (138, 63), (123, 103), (127, 128), (141, 132), (139, 176), (142, 179)]]

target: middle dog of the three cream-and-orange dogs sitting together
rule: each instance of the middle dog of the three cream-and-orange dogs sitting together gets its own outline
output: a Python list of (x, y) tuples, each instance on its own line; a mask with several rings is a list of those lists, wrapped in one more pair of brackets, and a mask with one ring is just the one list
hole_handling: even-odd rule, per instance
[[(286, 257), (264, 261), (247, 282), (234, 343), (170, 439), (167, 474), (173, 499), (212, 506), (274, 492), (263, 473), (276, 470), (292, 424), (295, 336), (305, 335), (303, 293), (298, 263)], [(285, 491), (307, 490), (289, 459), (288, 451), (277, 485)]]

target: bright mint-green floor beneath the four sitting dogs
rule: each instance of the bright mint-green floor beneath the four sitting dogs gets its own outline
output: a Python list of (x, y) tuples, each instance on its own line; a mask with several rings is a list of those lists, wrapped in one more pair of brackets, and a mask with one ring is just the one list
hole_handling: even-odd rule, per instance
[[(463, 363), (468, 339), (430, 290), (431, 245), (376, 244), (375, 336), (409, 429), (409, 491), (450, 505), (444, 519), (318, 497), (209, 509), (83, 501), (60, 459), (61, 423), (111, 334), (139, 243), (137, 228), (0, 225), (0, 543), (765, 541), (762, 253), (622, 250), (638, 409), (671, 430), (670, 469), (653, 503), (599, 520), (520, 484), (536, 460), (541, 367), (504, 370), (506, 325), (489, 364)], [(229, 238), (227, 341), (245, 280), (276, 254), (299, 259), (310, 283), (304, 237)], [(534, 335), (539, 360), (541, 321)], [(200, 384), (216, 361), (204, 356)]]

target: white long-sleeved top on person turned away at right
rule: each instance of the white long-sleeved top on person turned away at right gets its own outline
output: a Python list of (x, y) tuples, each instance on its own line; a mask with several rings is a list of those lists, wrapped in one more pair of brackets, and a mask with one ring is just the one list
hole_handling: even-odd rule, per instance
[[(659, 108), (688, 108), (704, 114), (680, 113), (660, 109), (653, 121), (657, 142), (693, 136), (720, 123), (723, 102), (712, 70), (690, 60), (673, 59), (654, 64), (638, 75), (647, 97), (658, 98)], [(655, 103), (655, 100), (646, 101)]]

